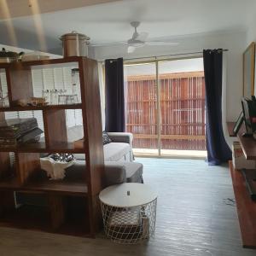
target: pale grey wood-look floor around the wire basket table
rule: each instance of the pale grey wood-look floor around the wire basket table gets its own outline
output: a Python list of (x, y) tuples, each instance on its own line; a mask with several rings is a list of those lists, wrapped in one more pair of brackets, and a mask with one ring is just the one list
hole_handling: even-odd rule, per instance
[(137, 159), (159, 193), (154, 239), (141, 245), (0, 228), (1, 256), (255, 256), (241, 247), (230, 172), (203, 160)]

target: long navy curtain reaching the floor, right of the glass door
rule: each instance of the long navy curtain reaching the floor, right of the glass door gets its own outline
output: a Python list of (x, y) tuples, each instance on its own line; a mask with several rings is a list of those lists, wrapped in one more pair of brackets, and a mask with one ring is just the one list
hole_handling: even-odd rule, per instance
[(231, 160), (222, 126), (222, 49), (204, 49), (207, 106), (207, 160), (211, 166)]

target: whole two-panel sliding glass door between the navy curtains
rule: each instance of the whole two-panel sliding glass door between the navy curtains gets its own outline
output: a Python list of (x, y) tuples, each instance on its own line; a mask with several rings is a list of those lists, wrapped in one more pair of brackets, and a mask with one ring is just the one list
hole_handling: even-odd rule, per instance
[(202, 58), (127, 64), (125, 88), (136, 154), (206, 155)]

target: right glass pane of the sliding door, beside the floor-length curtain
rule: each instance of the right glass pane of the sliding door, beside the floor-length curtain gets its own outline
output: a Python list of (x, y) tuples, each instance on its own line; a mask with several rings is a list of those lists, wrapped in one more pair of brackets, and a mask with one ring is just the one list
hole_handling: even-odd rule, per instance
[[(206, 150), (202, 58), (159, 63), (161, 154)], [(172, 151), (175, 150), (175, 151)], [(190, 154), (195, 154), (195, 152)], [(183, 152), (183, 155), (188, 152)], [(204, 156), (198, 152), (195, 156)]]

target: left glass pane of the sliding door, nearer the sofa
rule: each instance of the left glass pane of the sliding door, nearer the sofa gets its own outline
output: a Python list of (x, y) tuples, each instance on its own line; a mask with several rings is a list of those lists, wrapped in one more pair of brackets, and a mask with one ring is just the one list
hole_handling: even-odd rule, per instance
[(125, 89), (125, 128), (135, 154), (158, 154), (155, 64), (125, 65)]

